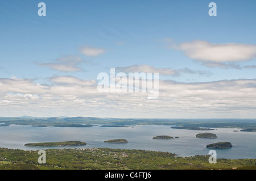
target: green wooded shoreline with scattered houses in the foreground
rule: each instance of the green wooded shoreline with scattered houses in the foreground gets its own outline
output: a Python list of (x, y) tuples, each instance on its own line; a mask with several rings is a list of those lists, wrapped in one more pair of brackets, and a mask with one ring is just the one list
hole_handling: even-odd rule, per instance
[(0, 169), (134, 169), (134, 170), (185, 170), (185, 169), (256, 169), (256, 159), (217, 159), (208, 162), (209, 155), (177, 157), (162, 151), (131, 149), (47, 149), (46, 163), (38, 163), (38, 151), (0, 148)]

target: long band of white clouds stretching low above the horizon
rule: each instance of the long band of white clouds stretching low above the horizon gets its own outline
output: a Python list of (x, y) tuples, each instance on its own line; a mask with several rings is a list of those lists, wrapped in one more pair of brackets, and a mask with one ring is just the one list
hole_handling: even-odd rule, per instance
[[(201, 83), (159, 81), (158, 99), (148, 93), (100, 93), (97, 81), (71, 76), (49, 78), (48, 85), (32, 79), (1, 78), (2, 116), (97, 116), (253, 118), (256, 79)], [(187, 116), (187, 117), (184, 117)], [(218, 117), (219, 116), (219, 117)]]

